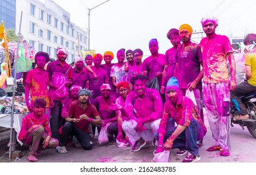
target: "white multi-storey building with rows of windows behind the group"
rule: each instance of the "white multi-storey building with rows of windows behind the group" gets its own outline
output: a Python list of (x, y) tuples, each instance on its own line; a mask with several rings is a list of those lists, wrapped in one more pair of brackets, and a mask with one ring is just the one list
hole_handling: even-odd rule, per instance
[[(23, 16), (21, 19), (21, 11)], [(88, 48), (87, 31), (70, 21), (70, 14), (51, 0), (44, 4), (38, 0), (16, 1), (16, 32), (34, 46), (36, 51), (44, 51), (56, 58), (57, 47), (68, 49), (67, 62)]]

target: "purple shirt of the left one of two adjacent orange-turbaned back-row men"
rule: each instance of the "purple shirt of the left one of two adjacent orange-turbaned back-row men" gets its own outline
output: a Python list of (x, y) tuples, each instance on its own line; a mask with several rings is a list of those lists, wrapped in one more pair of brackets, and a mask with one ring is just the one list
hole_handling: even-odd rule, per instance
[(93, 96), (91, 96), (91, 98), (96, 98), (98, 96), (101, 96), (100, 87), (103, 83), (108, 82), (108, 74), (103, 68), (95, 69), (95, 66), (92, 66), (91, 69), (93, 69), (93, 72), (98, 76), (98, 80), (95, 80), (93, 79), (92, 73), (88, 72), (87, 74), (89, 89), (90, 91), (93, 91)]

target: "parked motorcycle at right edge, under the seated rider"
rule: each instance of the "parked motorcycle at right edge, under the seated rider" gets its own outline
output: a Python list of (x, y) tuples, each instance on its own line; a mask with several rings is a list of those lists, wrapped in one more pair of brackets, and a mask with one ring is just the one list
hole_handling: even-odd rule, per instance
[[(242, 103), (245, 104), (247, 114), (250, 117), (246, 120), (235, 120), (231, 118), (231, 126), (233, 127), (233, 124), (239, 124), (243, 130), (246, 126), (253, 138), (256, 139), (256, 93), (245, 94), (244, 96), (240, 96), (240, 99), (242, 100)], [(237, 114), (239, 114), (235, 105), (231, 106), (230, 113), (232, 116), (237, 116)]]

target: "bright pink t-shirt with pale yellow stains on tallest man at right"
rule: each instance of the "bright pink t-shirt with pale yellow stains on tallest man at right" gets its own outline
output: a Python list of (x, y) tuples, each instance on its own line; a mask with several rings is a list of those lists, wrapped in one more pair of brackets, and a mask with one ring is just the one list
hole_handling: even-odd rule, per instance
[(203, 83), (228, 82), (227, 54), (233, 53), (227, 36), (204, 37), (200, 42), (203, 56)]

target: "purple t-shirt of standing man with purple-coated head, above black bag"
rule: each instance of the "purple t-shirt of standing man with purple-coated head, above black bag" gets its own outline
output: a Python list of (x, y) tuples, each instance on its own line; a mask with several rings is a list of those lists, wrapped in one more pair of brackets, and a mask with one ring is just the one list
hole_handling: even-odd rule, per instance
[[(163, 69), (165, 69), (165, 65), (167, 65), (165, 61), (164, 54), (158, 54), (157, 58), (153, 58), (153, 56), (149, 56), (143, 61), (141, 71), (148, 71), (148, 79), (152, 79), (155, 77), (156, 72), (163, 73)], [(161, 87), (161, 79), (158, 78), (158, 84)]]

